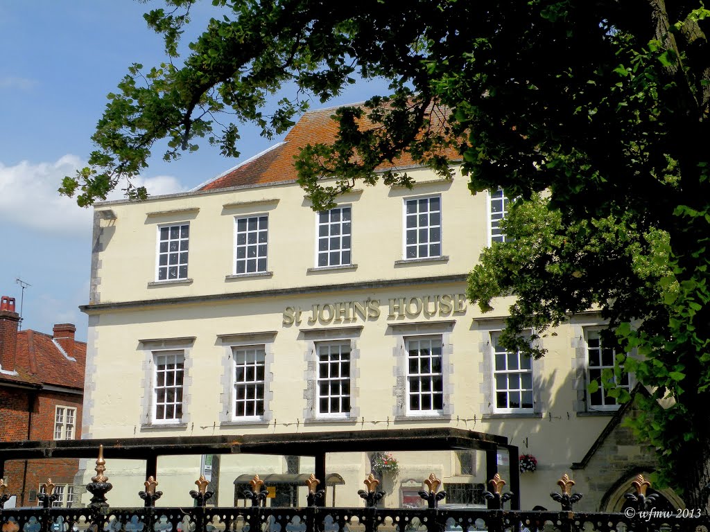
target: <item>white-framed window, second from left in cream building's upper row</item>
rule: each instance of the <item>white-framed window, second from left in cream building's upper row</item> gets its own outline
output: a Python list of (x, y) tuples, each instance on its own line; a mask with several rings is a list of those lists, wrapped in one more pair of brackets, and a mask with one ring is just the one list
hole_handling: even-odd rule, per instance
[(234, 274), (266, 272), (268, 215), (234, 218)]

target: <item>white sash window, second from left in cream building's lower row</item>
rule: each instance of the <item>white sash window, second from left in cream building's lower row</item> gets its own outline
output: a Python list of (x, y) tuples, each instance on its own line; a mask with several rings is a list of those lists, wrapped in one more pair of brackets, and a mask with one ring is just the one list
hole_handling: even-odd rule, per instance
[(232, 348), (234, 358), (234, 419), (261, 419), (266, 391), (266, 350), (263, 345)]

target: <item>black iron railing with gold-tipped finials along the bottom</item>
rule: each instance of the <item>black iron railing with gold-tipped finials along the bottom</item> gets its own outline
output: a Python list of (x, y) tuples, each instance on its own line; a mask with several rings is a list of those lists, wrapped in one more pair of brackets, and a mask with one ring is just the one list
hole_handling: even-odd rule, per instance
[(207, 491), (204, 477), (195, 481), (197, 489), (190, 491), (195, 506), (156, 508), (160, 499), (158, 482), (148, 478), (145, 490), (138, 492), (144, 501), (142, 508), (112, 508), (107, 501), (111, 483), (102, 450), (97, 460), (97, 475), (87, 484), (92, 499), (87, 508), (53, 508), (57, 496), (51, 480), (43, 484), (38, 495), (41, 507), (4, 509), (9, 498), (6, 485), (0, 480), (0, 532), (709, 532), (710, 520), (697, 511), (655, 510), (655, 494), (647, 496), (650, 483), (638, 475), (631, 483), (634, 490), (626, 496), (622, 513), (581, 513), (573, 506), (581, 494), (573, 493), (574, 481), (563, 475), (557, 482), (560, 493), (550, 497), (560, 504), (556, 511), (505, 510), (503, 504), (510, 493), (503, 493), (506, 482), (499, 475), (488, 481), (490, 492), (484, 492), (487, 509), (439, 507), (446, 497), (440, 491), (441, 481), (430, 475), (423, 484), (427, 490), (420, 497), (426, 508), (378, 508), (383, 492), (378, 480), (369, 475), (364, 481), (367, 490), (359, 495), (365, 501), (361, 508), (326, 508), (318, 490), (319, 480), (311, 475), (306, 485), (307, 506), (281, 508), (266, 506), (268, 490), (258, 475), (253, 477), (245, 494), (251, 507), (208, 507), (212, 492)]

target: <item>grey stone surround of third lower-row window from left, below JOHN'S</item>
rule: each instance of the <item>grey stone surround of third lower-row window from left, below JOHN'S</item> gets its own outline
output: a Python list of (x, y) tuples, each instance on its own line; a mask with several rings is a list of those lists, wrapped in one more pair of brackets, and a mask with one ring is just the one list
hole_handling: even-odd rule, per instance
[[(303, 379), (306, 383), (306, 388), (303, 392), (305, 399), (305, 409), (303, 410), (303, 419), (305, 423), (332, 423), (334, 421), (342, 421), (344, 423), (354, 423), (360, 415), (359, 404), (359, 387), (358, 379), (360, 377), (360, 369), (358, 360), (360, 358), (360, 350), (357, 347), (357, 340), (360, 337), (364, 326), (344, 326), (344, 327), (329, 327), (315, 329), (301, 329), (300, 334), (306, 343), (305, 353), (303, 358), (306, 363), (306, 370), (303, 374)], [(350, 342), (350, 414), (348, 416), (329, 416), (327, 414), (318, 414), (317, 411), (317, 379), (318, 379), (318, 353), (317, 343), (320, 342)]]

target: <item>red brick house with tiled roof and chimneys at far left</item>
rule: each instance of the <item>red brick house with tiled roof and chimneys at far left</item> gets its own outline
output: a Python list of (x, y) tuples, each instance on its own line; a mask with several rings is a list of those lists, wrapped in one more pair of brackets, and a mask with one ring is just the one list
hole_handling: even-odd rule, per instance
[[(2, 297), (0, 441), (81, 438), (86, 344), (75, 340), (71, 323), (55, 325), (51, 335), (18, 331), (19, 323), (15, 300)], [(12, 460), (0, 477), (16, 495), (16, 506), (37, 504), (48, 477), (60, 494), (55, 505), (70, 506), (79, 500), (78, 469), (79, 460)]]

